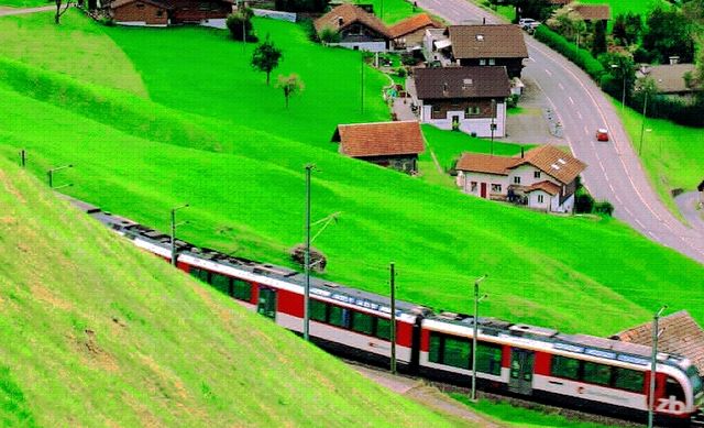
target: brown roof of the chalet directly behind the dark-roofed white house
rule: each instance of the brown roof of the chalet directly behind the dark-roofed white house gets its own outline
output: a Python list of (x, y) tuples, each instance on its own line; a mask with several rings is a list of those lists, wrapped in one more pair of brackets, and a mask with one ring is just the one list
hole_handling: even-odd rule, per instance
[(451, 25), (452, 55), (461, 58), (527, 58), (524, 32), (518, 25)]

